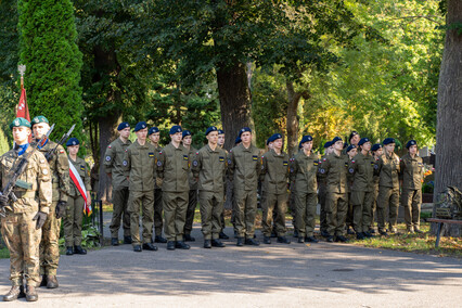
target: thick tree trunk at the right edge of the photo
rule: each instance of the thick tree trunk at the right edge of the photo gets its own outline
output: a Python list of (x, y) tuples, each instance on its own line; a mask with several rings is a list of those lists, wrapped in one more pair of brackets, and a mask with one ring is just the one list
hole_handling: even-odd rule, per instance
[[(447, 3), (449, 28), (438, 81), (434, 202), (448, 185), (462, 189), (462, 1), (448, 0)], [(459, 27), (451, 28), (451, 25)], [(452, 236), (460, 236), (462, 228), (452, 226), (448, 231)]]

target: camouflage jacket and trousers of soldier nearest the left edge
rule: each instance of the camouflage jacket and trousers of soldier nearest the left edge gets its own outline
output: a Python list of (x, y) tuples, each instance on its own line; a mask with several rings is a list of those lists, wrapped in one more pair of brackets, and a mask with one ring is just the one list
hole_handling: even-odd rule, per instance
[[(26, 152), (33, 151), (31, 146)], [(17, 152), (11, 150), (0, 157), (0, 183), (4, 188), (13, 171), (13, 164), (18, 158)], [(50, 213), (52, 202), (51, 171), (44, 156), (35, 151), (21, 180), (31, 183), (30, 190), (15, 188), (16, 202), (10, 201), (7, 217), (1, 219), (1, 233), (10, 251), (10, 280), (13, 285), (22, 285), (23, 279), (28, 285), (37, 286), (39, 275), (39, 244), (42, 230), (36, 230), (37, 221), (33, 218), (37, 211)], [(50, 216), (54, 214), (50, 214)]]

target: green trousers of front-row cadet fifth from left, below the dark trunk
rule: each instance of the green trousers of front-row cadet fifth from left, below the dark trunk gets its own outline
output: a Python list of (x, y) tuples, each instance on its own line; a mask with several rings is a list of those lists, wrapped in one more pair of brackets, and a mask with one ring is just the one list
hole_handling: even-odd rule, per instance
[(235, 228), (238, 236), (253, 239), (257, 214), (257, 191), (234, 189)]

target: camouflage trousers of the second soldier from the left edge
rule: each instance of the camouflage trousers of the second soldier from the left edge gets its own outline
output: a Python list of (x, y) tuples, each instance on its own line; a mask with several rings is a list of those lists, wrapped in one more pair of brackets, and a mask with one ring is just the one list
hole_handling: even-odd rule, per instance
[(52, 202), (50, 214), (41, 228), (40, 274), (56, 275), (60, 262), (61, 219), (56, 219), (56, 204), (57, 201)]

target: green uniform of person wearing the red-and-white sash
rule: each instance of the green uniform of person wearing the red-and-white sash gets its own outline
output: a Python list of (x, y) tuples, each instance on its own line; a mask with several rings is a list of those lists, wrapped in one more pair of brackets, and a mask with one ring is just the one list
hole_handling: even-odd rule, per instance
[[(82, 182), (85, 183), (85, 189), (87, 192), (90, 192), (90, 174), (88, 171), (87, 163), (80, 157), (77, 157), (75, 162), (69, 157), (69, 162), (74, 165), (77, 172), (79, 174)], [(76, 184), (72, 181), (69, 197), (67, 200), (66, 214), (63, 219), (63, 230), (66, 247), (80, 246), (81, 244), (84, 206), (84, 197), (77, 190)]]

